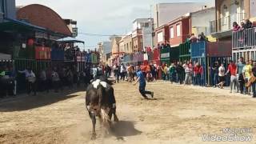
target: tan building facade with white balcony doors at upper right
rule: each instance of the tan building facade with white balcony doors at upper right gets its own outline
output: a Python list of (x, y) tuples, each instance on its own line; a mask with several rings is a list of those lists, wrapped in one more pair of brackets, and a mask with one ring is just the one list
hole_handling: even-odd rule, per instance
[(210, 22), (210, 33), (220, 41), (230, 41), (233, 22), (250, 18), (250, 0), (215, 0), (216, 19)]

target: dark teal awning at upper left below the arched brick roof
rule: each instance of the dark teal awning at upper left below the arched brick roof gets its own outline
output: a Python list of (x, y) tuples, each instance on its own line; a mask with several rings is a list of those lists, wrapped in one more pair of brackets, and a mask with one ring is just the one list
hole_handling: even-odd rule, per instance
[(18, 21), (11, 18), (4, 18), (4, 21), (0, 23), (0, 31), (3, 32), (26, 32), (28, 30), (46, 31), (43, 27), (34, 26), (28, 22)]

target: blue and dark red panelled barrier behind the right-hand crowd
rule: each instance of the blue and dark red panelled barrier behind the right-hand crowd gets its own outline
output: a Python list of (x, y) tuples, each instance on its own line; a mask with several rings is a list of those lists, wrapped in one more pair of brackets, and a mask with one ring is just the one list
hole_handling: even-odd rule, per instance
[[(212, 66), (214, 62), (218, 62), (218, 64), (223, 63), (227, 69), (232, 56), (231, 49), (230, 42), (197, 42), (191, 44), (192, 62), (198, 62), (203, 67), (203, 74), (200, 79), (201, 86), (214, 86)], [(230, 78), (226, 77), (226, 86), (229, 83)]]

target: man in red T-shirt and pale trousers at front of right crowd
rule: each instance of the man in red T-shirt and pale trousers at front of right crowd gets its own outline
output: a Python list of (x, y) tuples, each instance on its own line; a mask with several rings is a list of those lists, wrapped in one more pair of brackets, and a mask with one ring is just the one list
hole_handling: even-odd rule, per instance
[(228, 73), (231, 74), (231, 77), (230, 77), (230, 93), (232, 93), (233, 86), (234, 86), (234, 89), (237, 88), (237, 92), (238, 92), (237, 66), (234, 64), (233, 61), (230, 61), (230, 65), (228, 66), (228, 70), (226, 71), (225, 75), (227, 75)]

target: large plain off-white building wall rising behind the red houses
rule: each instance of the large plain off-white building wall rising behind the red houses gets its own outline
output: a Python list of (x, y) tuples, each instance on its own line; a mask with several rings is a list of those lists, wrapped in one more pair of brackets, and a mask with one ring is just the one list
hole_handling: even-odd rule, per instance
[(214, 6), (213, 2), (176, 2), (176, 3), (159, 3), (154, 6), (154, 28), (158, 28), (168, 22), (178, 18), (183, 14), (191, 11), (202, 10), (206, 7)]

